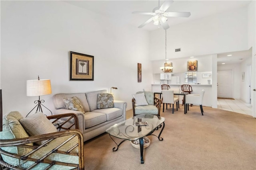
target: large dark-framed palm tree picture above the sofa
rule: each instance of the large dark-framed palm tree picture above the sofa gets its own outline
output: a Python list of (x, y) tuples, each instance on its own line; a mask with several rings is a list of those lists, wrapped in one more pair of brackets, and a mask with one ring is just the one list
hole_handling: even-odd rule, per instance
[(93, 80), (94, 56), (70, 51), (70, 80)]

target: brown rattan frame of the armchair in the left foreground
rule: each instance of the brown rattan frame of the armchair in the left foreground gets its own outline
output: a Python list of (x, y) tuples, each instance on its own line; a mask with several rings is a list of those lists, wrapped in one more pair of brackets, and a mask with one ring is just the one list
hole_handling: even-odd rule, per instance
[[(1, 148), (2, 147), (11, 147), (11, 146), (31, 148), (32, 151), (26, 155), (13, 154), (10, 152), (6, 152), (2, 149), (1, 149), (1, 154), (10, 156), (12, 158), (18, 158), (20, 160), (33, 161), (34, 164), (31, 164), (29, 167), (23, 167), (23, 168), (17, 167), (17, 166), (13, 166), (12, 164), (8, 164), (8, 163), (4, 162), (4, 160), (2, 160), (2, 156), (1, 156), (1, 166), (10, 168), (10, 169), (14, 169), (14, 170), (23, 170), (23, 169), (30, 170), (30, 169), (33, 169), (33, 167), (36, 166), (37, 164), (46, 163), (46, 164), (49, 164), (49, 166), (46, 169), (52, 167), (53, 165), (63, 165), (63, 166), (73, 166), (74, 167), (73, 169), (75, 169), (75, 170), (84, 170), (84, 139), (83, 139), (83, 134), (79, 130), (78, 117), (76, 116), (76, 114), (66, 113), (66, 114), (60, 114), (60, 115), (51, 115), (51, 116), (47, 116), (47, 118), (49, 120), (53, 120), (52, 123), (55, 126), (56, 125), (58, 126), (57, 127), (57, 129), (59, 129), (58, 132), (48, 133), (48, 134), (44, 134), (44, 135), (37, 135), (37, 136), (32, 136), (32, 137), (26, 137), (26, 138), (21, 138), (21, 139), (1, 139), (0, 140)], [(65, 118), (65, 121), (63, 121), (63, 122), (60, 121), (60, 119), (62, 119), (62, 118)], [(67, 126), (66, 123), (70, 120), (74, 123), (72, 125), (69, 124)], [(59, 138), (59, 137), (65, 137), (65, 136), (71, 136), (71, 137), (68, 138), (67, 140), (63, 141), (60, 145), (55, 147), (53, 150), (50, 150), (50, 152), (48, 152), (47, 154), (42, 156), (40, 159), (30, 157), (31, 154), (33, 154), (34, 152), (37, 152), (40, 148), (44, 147), (46, 144), (50, 143), (54, 139)], [(77, 137), (77, 139), (78, 139), (77, 143), (74, 146), (71, 146), (68, 150), (65, 150), (65, 151), (63, 151), (63, 149), (58, 150), (60, 147), (62, 147), (66, 143), (68, 143), (68, 141), (72, 140), (74, 137)], [(34, 146), (26, 145), (29, 143), (36, 143), (38, 141), (45, 141), (45, 140), (49, 140), (49, 141), (47, 141), (46, 143), (44, 143), (42, 145), (34, 145)], [(74, 153), (74, 152), (72, 153), (71, 151), (74, 150), (76, 147), (78, 147), (78, 153)], [(60, 162), (60, 161), (56, 161), (56, 160), (46, 160), (45, 158), (50, 156), (50, 154), (52, 154), (52, 153), (60, 153), (60, 154), (78, 156), (79, 162), (78, 162), (78, 164), (72, 164), (72, 163)]]

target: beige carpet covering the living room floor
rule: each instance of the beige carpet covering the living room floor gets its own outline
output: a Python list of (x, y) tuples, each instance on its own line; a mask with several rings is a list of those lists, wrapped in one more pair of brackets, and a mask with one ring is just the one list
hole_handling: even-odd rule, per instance
[[(144, 149), (144, 164), (140, 149), (130, 141), (116, 144), (104, 133), (85, 142), (86, 170), (256, 170), (256, 119), (249, 115), (211, 107), (189, 107), (184, 114), (168, 108), (159, 141), (148, 136), (150, 146)], [(127, 117), (132, 110), (127, 111)], [(158, 135), (159, 130), (154, 132)], [(121, 139), (116, 139), (118, 143)]]

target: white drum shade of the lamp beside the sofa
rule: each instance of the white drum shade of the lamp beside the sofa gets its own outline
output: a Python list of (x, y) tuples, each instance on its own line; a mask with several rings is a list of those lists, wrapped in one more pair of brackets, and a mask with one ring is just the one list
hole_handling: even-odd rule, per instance
[(27, 96), (42, 96), (52, 94), (51, 81), (27, 80)]

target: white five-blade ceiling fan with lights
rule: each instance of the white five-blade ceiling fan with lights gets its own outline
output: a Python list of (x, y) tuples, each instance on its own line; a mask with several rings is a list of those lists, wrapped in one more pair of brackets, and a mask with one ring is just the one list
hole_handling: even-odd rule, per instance
[(152, 17), (147, 20), (146, 22), (142, 23), (138, 28), (144, 27), (146, 24), (150, 23), (151, 21), (154, 21), (154, 25), (162, 25), (164, 29), (168, 29), (169, 25), (166, 22), (166, 17), (189, 17), (190, 12), (166, 12), (166, 10), (170, 7), (172, 4), (172, 0), (166, 0), (160, 6), (160, 0), (158, 1), (158, 6), (153, 9), (153, 12), (132, 12), (132, 14), (142, 14), (142, 15), (151, 15)]

